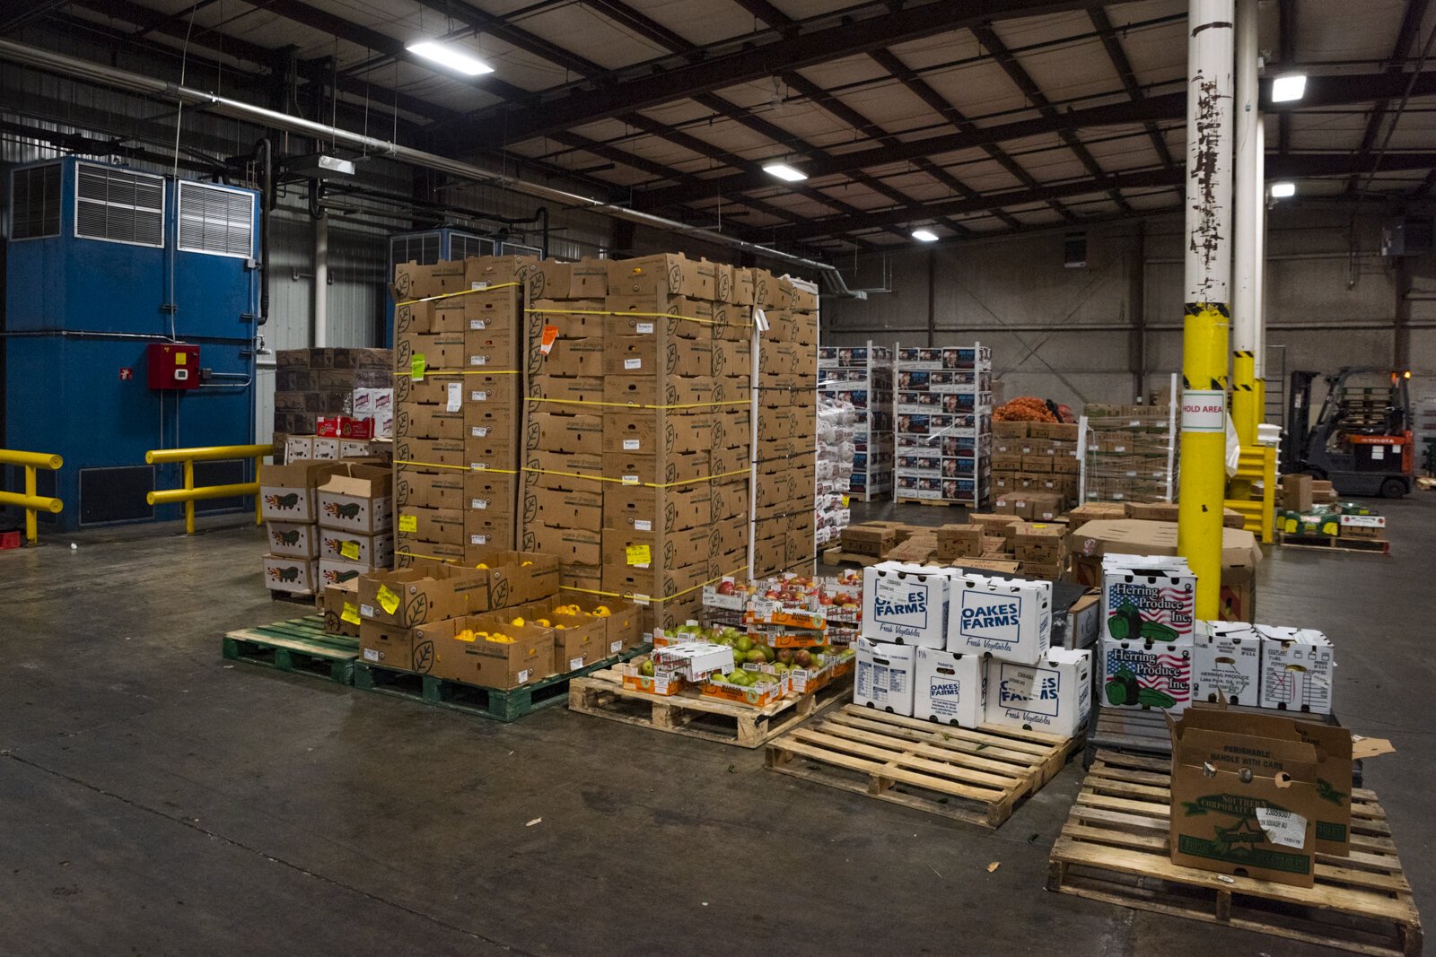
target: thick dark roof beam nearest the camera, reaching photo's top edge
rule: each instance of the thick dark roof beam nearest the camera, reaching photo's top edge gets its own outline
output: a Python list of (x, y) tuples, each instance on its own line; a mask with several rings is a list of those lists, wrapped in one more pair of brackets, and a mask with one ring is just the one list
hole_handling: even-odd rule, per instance
[[(511, 108), (501, 105), (454, 126), (449, 138), (481, 149), (520, 142), (557, 129), (613, 116), (625, 109), (643, 109), (695, 93), (708, 93), (754, 79), (773, 76), (852, 53), (916, 40), (972, 26), (994, 17), (1034, 16), (1073, 10), (1083, 0), (931, 0), (873, 16), (854, 16), (836, 26), (797, 32), (768, 42), (754, 39), (729, 53), (709, 56), (673, 69), (651, 69), (640, 76), (607, 75), (597, 89), (543, 98), (541, 102)], [(507, 115), (504, 122), (497, 116)]]

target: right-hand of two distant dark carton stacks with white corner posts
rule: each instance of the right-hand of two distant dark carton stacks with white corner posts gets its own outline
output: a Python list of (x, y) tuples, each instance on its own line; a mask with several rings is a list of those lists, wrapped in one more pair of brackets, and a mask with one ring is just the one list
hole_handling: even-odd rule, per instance
[(899, 346), (896, 377), (895, 498), (979, 508), (991, 488), (991, 349)]

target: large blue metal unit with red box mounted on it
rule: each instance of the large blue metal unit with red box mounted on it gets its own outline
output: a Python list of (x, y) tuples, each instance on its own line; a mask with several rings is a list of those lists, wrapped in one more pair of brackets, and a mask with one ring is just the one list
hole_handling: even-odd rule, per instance
[[(65, 456), (63, 529), (178, 518), (144, 496), (180, 466), (145, 452), (254, 436), (258, 194), (72, 156), (6, 185), (4, 446)], [(200, 346), (198, 387), (148, 387), (146, 347), (164, 341)]]

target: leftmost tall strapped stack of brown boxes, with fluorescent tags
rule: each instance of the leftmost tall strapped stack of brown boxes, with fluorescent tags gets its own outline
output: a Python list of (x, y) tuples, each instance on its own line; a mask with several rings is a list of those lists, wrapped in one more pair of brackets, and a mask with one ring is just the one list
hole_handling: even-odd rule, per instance
[(520, 257), (398, 268), (395, 538), (416, 560), (475, 565), (517, 542), (524, 281)]

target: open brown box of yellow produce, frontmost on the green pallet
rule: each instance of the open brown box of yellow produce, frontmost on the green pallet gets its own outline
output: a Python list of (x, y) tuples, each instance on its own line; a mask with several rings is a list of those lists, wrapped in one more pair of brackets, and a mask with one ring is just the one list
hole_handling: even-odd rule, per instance
[[(505, 614), (468, 616), (435, 628), (435, 677), (478, 687), (514, 689), (553, 674), (553, 630), (510, 624)], [(513, 641), (490, 641), (475, 633), (503, 634)]]

